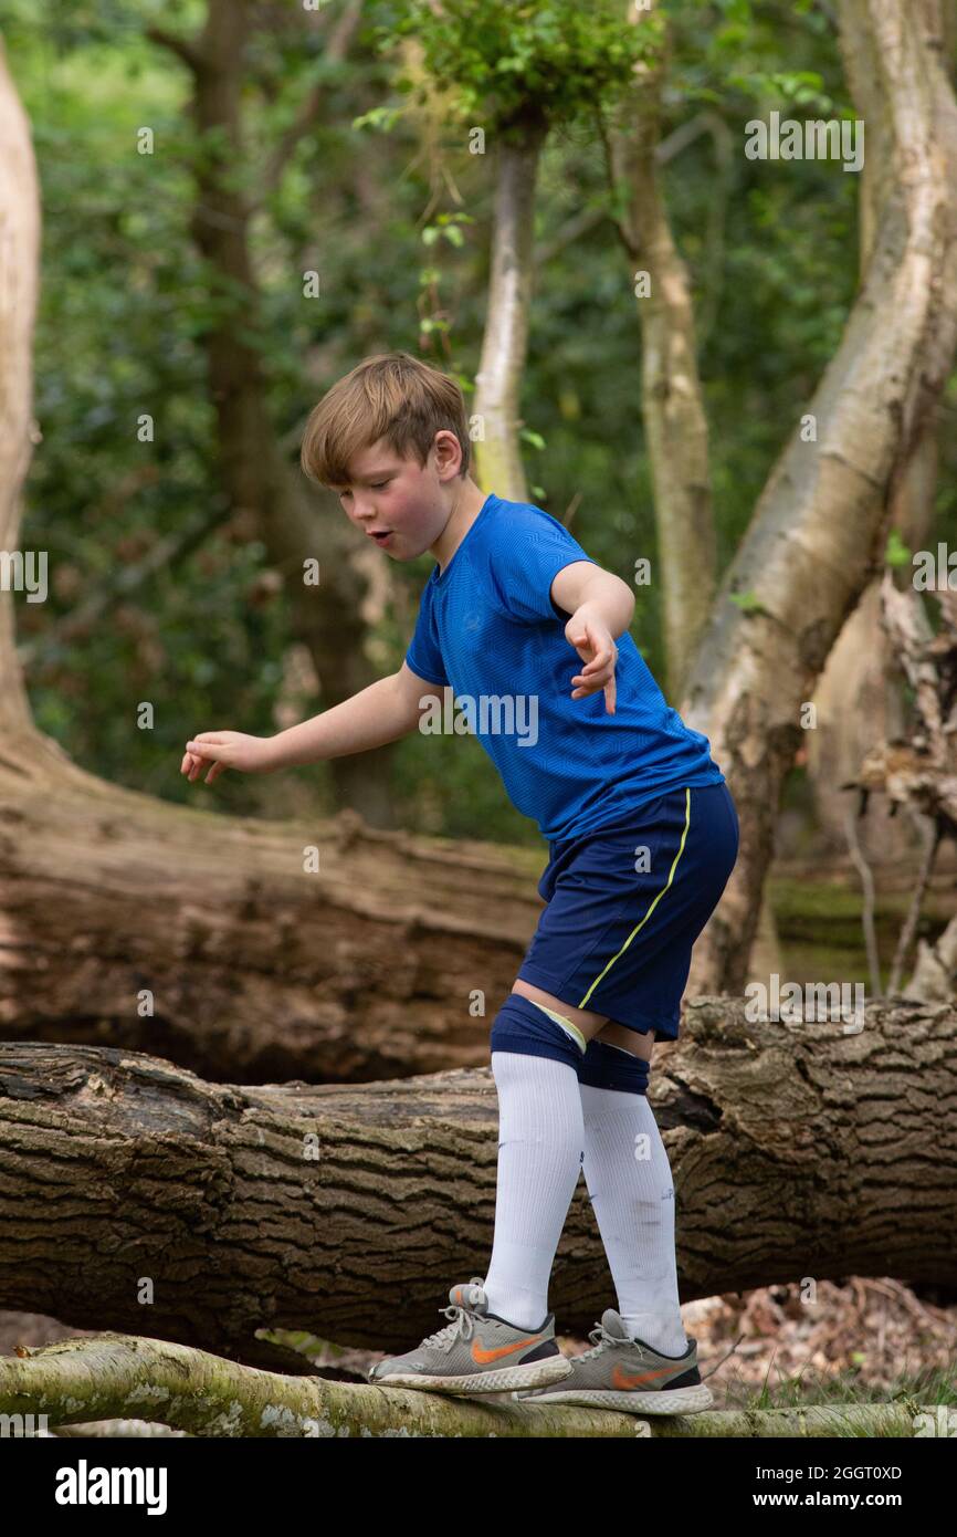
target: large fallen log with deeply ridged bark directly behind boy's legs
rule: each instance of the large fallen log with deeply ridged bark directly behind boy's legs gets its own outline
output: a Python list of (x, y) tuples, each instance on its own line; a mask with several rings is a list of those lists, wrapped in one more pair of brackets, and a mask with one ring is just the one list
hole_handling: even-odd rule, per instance
[[(684, 1302), (845, 1274), (957, 1280), (957, 1013), (869, 1004), (859, 1033), (705, 998), (651, 1102)], [(260, 1328), (407, 1349), (484, 1274), (488, 1068), (349, 1085), (217, 1085), (95, 1047), (0, 1047), (0, 1308), (263, 1360)], [(614, 1305), (579, 1180), (550, 1306)], [(260, 1353), (257, 1356), (257, 1351)]]

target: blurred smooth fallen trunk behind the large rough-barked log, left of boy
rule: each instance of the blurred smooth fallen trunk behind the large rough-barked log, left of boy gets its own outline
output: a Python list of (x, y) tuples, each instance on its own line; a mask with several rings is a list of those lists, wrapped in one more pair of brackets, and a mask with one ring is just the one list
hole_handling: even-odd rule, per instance
[(174, 810), (78, 770), (17, 779), (0, 762), (0, 1039), (118, 1045), (247, 1082), (487, 1065), (541, 858), (355, 813)]

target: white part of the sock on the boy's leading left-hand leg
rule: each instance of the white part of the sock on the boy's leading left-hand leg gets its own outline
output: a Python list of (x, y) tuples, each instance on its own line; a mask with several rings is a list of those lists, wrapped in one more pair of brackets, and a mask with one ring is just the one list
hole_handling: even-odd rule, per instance
[(567, 1062), (493, 1051), (499, 1142), (488, 1311), (533, 1330), (548, 1311), (548, 1277), (581, 1174), (582, 1100)]

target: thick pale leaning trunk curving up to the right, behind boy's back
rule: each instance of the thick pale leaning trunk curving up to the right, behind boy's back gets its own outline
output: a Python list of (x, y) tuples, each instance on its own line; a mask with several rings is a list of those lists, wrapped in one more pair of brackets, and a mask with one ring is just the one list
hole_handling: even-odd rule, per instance
[[(743, 984), (802, 705), (879, 567), (894, 496), (957, 340), (957, 105), (942, 66), (939, 0), (842, 0), (840, 17), (845, 52), (869, 49), (873, 89), (889, 103), (891, 183), (866, 283), (810, 404), (819, 437), (802, 424), (780, 455), (680, 707), (711, 739), (742, 833), (736, 870), (697, 945), (693, 993)], [(868, 98), (856, 101), (860, 117)]]

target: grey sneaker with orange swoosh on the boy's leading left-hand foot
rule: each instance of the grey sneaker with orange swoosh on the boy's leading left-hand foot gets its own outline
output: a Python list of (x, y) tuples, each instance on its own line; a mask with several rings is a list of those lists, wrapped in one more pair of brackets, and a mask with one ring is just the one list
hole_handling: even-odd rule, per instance
[(538, 1388), (571, 1376), (571, 1363), (555, 1339), (555, 1314), (536, 1330), (519, 1330), (488, 1313), (482, 1277), (459, 1282), (449, 1293), (452, 1319), (406, 1356), (386, 1356), (367, 1373), (384, 1388), (430, 1388), (439, 1393), (504, 1393)]

